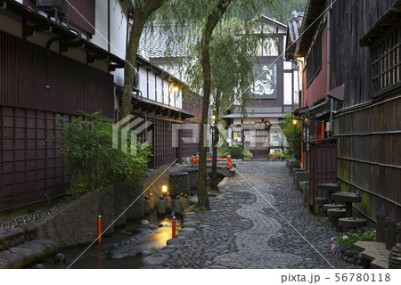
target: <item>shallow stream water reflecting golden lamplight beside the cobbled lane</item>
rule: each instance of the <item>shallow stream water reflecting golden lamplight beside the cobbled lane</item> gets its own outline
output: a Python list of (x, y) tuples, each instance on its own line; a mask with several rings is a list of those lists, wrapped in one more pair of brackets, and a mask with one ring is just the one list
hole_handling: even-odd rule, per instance
[[(143, 266), (143, 255), (149, 255), (166, 246), (171, 239), (172, 216), (158, 217), (151, 214), (141, 223), (127, 224), (125, 229), (115, 231), (113, 236), (102, 237), (102, 245), (96, 243), (70, 268), (82, 269), (125, 269)], [(177, 221), (177, 230), (180, 222)], [(86, 249), (76, 246), (60, 250), (66, 256), (65, 265), (46, 265), (46, 268), (67, 268)]]

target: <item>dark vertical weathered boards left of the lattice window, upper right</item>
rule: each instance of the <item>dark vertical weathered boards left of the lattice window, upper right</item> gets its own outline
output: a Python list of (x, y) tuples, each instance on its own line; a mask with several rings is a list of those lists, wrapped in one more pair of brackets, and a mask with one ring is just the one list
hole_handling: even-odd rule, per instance
[(372, 97), (372, 62), (369, 47), (359, 40), (396, 0), (338, 0), (331, 17), (331, 88), (345, 84), (344, 107)]

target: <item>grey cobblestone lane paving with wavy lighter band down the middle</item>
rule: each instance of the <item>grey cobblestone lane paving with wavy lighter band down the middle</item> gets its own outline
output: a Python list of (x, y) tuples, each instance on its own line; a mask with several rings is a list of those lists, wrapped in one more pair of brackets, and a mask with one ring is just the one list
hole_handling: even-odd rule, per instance
[[(303, 206), (284, 162), (243, 161), (220, 184), (211, 210), (184, 216), (158, 255), (168, 268), (361, 268), (331, 250), (327, 217)], [(167, 259), (167, 261), (166, 261)]]

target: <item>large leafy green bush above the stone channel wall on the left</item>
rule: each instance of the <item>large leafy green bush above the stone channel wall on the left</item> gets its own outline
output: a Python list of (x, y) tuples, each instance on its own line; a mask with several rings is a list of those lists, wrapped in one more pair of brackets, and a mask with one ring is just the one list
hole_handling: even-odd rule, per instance
[[(146, 174), (146, 164), (151, 155), (150, 146), (140, 142), (127, 142), (127, 153), (112, 147), (112, 123), (102, 117), (101, 111), (69, 122), (57, 117), (62, 124), (58, 142), (61, 155), (66, 159), (70, 176), (67, 200), (78, 198), (86, 191), (127, 181), (140, 183)], [(130, 137), (130, 135), (128, 135)], [(136, 151), (136, 155), (131, 154)]]

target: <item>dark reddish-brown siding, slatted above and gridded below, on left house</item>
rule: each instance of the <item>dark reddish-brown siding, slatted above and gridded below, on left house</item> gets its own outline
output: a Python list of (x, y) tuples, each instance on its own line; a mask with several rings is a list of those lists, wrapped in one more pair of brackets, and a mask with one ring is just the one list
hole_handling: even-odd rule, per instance
[(51, 53), (46, 89), (45, 66), (44, 48), (0, 32), (0, 211), (65, 193), (60, 150), (45, 142), (60, 135), (57, 114), (113, 116), (111, 75)]

